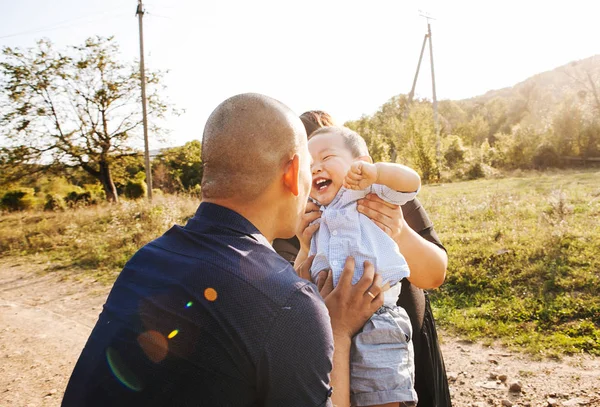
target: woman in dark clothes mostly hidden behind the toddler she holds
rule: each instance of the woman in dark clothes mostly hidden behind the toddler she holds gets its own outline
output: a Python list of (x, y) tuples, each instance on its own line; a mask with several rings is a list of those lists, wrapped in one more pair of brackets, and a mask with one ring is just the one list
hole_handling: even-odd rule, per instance
[[(336, 125), (331, 116), (323, 111), (305, 112), (300, 119), (308, 135), (320, 127)], [(419, 406), (451, 406), (435, 322), (429, 299), (423, 291), (443, 283), (448, 261), (433, 223), (418, 199), (399, 207), (384, 202), (376, 195), (369, 195), (359, 201), (358, 210), (396, 241), (411, 269), (410, 278), (402, 283), (398, 305), (406, 309), (413, 325), (415, 390)], [(310, 223), (319, 218), (320, 213), (317, 205), (309, 203), (299, 238), (278, 239), (273, 243), (275, 250), (288, 261), (303, 261), (308, 255), (310, 238), (316, 230), (316, 225), (311, 226)]]

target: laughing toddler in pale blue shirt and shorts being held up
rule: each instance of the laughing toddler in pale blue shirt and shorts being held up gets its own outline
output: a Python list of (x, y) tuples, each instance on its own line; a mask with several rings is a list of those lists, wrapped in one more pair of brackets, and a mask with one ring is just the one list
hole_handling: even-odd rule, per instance
[(373, 221), (358, 212), (356, 201), (369, 193), (395, 205), (415, 198), (421, 186), (412, 169), (393, 163), (376, 163), (362, 137), (344, 127), (324, 127), (311, 134), (308, 149), (313, 183), (311, 198), (321, 205), (319, 229), (309, 254), (315, 258), (311, 276), (327, 268), (334, 285), (346, 257), (356, 261), (356, 283), (365, 261), (371, 262), (391, 288), (384, 305), (353, 338), (350, 366), (352, 404), (356, 406), (411, 406), (414, 362), (411, 324), (406, 311), (396, 306), (400, 280), (410, 275), (397, 244)]

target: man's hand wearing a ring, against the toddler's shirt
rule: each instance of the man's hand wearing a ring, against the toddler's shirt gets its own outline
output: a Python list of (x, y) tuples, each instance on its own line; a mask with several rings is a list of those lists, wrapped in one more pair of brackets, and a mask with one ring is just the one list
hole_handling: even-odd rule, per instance
[[(355, 263), (354, 258), (348, 257), (337, 286), (326, 294), (325, 305), (334, 337), (351, 338), (383, 305), (381, 276), (375, 273), (371, 263), (365, 262), (364, 266), (362, 277), (352, 285)], [(325, 283), (324, 289), (327, 287)]]

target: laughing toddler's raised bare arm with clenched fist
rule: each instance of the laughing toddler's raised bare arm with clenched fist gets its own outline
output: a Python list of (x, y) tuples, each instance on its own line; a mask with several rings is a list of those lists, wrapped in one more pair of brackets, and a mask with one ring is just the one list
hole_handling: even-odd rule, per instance
[(398, 192), (415, 192), (421, 186), (421, 177), (415, 170), (402, 164), (355, 161), (344, 179), (348, 189), (366, 189), (381, 184)]

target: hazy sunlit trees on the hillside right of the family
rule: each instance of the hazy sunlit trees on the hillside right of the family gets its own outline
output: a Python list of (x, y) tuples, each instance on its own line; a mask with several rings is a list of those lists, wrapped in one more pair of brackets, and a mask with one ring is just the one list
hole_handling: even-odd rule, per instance
[(375, 160), (402, 161), (425, 180), (477, 178), (514, 169), (592, 163), (600, 157), (600, 56), (539, 74), (513, 88), (438, 103), (440, 157), (432, 104), (392, 97), (345, 123)]

